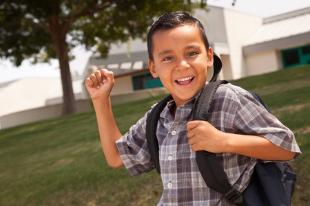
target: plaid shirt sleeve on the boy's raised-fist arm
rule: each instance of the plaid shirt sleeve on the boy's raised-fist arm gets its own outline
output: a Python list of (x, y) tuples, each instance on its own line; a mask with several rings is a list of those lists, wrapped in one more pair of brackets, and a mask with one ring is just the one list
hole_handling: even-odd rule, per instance
[(154, 169), (149, 155), (145, 128), (148, 111), (145, 116), (131, 126), (130, 131), (116, 141), (116, 147), (123, 159), (125, 168), (133, 177)]

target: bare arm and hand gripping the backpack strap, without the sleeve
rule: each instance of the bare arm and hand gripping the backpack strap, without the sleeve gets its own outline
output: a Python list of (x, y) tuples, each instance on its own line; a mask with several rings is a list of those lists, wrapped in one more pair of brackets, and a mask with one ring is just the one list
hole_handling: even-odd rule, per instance
[(280, 148), (265, 137), (224, 133), (205, 121), (188, 122), (187, 130), (189, 145), (194, 152), (230, 152), (271, 161), (288, 161), (296, 155), (296, 152)]

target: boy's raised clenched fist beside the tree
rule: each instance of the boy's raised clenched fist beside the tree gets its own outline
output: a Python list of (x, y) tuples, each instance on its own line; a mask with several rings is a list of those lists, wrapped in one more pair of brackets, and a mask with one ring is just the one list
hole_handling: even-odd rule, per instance
[(92, 100), (109, 98), (113, 85), (113, 72), (108, 71), (107, 69), (95, 71), (85, 80), (85, 86), (88, 93), (90, 93), (90, 98), (92, 98)]

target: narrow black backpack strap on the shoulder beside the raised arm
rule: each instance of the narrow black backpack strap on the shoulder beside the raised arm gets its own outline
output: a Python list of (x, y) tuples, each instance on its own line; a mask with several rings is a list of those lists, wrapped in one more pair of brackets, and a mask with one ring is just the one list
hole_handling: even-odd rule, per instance
[(167, 96), (152, 108), (152, 111), (147, 117), (147, 126), (145, 130), (149, 155), (151, 155), (151, 160), (154, 163), (158, 174), (161, 174), (161, 167), (159, 165), (159, 146), (156, 137), (157, 122), (159, 115), (161, 115), (161, 111), (163, 111), (163, 108), (165, 108), (169, 100), (172, 100), (172, 95)]

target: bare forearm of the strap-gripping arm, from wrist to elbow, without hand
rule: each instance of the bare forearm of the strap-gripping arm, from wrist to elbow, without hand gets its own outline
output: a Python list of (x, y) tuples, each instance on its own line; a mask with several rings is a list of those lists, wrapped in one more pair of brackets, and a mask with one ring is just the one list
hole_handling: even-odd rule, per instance
[(296, 155), (296, 152), (280, 148), (265, 137), (230, 133), (224, 135), (227, 139), (225, 152), (271, 161), (289, 161)]

